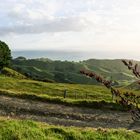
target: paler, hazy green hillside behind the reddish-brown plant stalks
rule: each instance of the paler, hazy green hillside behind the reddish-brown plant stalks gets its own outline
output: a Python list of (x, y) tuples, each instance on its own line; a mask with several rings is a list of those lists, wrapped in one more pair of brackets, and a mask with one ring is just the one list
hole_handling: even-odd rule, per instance
[(127, 69), (126, 66), (121, 62), (121, 60), (96, 60), (90, 59), (87, 61), (83, 61), (85, 65), (90, 70), (93, 70), (108, 79), (112, 80), (133, 80), (135, 76)]

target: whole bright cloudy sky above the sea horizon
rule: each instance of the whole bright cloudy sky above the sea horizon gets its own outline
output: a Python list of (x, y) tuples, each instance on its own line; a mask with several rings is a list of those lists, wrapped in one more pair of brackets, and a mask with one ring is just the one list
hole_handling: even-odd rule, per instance
[(113, 52), (140, 59), (139, 38), (140, 0), (0, 0), (0, 40), (11, 50)]

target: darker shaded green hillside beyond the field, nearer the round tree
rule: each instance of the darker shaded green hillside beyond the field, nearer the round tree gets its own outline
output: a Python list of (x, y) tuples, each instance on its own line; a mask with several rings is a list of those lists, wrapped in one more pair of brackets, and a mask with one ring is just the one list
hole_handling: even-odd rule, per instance
[(82, 76), (83, 65), (74, 62), (50, 61), (48, 59), (14, 60), (13, 68), (32, 79), (62, 83), (96, 83)]

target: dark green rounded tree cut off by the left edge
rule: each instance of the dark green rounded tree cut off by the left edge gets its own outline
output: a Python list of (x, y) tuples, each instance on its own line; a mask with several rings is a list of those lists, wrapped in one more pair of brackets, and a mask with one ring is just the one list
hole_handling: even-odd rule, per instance
[(0, 41), (0, 70), (5, 66), (9, 66), (11, 59), (11, 50), (8, 45)]

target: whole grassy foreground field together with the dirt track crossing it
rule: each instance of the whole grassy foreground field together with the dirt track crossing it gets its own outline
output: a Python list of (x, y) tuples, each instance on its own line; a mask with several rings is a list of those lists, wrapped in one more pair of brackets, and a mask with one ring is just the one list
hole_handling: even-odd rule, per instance
[(140, 137), (132, 131), (138, 132), (140, 127), (132, 121), (130, 113), (112, 101), (108, 89), (97, 85), (46, 83), (1, 75), (0, 115), (0, 136), (7, 139)]

